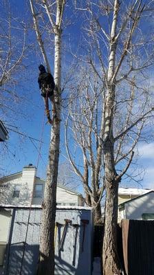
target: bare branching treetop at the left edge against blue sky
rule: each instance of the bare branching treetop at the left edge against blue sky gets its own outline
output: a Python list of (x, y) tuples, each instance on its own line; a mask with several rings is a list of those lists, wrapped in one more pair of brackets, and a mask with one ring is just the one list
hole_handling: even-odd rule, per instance
[[(2, 12), (3, 11), (3, 12)], [(1, 119), (11, 119), (17, 113), (22, 113), (21, 94), (17, 92), (19, 72), (23, 69), (25, 58), (26, 27), (25, 23), (10, 12), (8, 2), (1, 1), (0, 19), (0, 105)], [(16, 109), (18, 107), (18, 109)]]

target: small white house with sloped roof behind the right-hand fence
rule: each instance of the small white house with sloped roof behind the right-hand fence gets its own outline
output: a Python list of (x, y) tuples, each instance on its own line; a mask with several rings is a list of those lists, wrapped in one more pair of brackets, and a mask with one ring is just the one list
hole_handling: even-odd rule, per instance
[(122, 219), (154, 220), (154, 191), (120, 203), (118, 221)]

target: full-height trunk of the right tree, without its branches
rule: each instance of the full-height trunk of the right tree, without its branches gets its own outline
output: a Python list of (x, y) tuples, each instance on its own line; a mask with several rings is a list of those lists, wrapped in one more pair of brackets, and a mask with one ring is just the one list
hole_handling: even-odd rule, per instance
[(115, 56), (116, 25), (118, 21), (119, 0), (114, 1), (113, 21), (109, 52), (109, 70), (107, 75), (107, 95), (104, 104), (104, 184), (106, 188), (106, 206), (104, 219), (104, 239), (102, 248), (103, 275), (119, 275), (117, 252), (117, 217), (118, 217), (118, 181), (114, 164), (113, 115), (115, 100)]

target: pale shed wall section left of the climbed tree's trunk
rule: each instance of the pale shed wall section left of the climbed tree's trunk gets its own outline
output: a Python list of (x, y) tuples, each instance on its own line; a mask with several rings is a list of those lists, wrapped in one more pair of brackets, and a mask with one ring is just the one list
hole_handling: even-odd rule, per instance
[[(7, 275), (33, 275), (39, 259), (39, 230), (41, 210), (16, 210), (12, 241), (8, 256)], [(28, 229), (27, 239), (25, 236)], [(22, 266), (21, 266), (22, 265)]]

